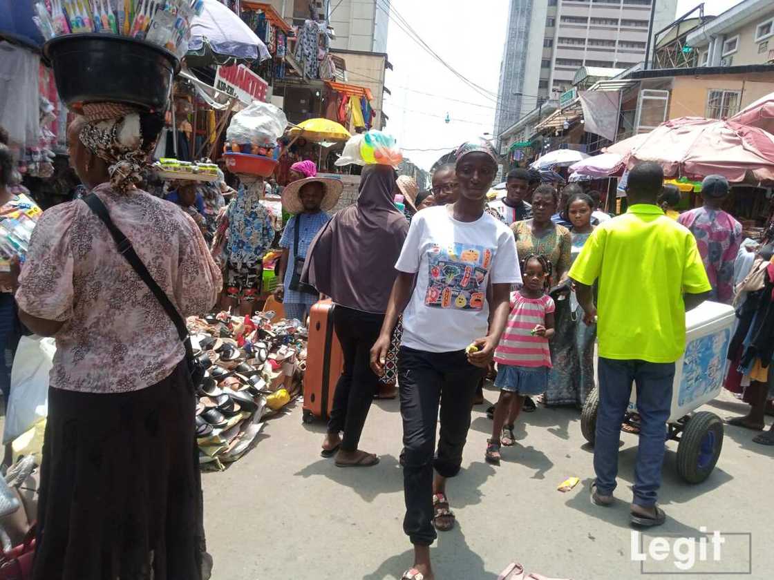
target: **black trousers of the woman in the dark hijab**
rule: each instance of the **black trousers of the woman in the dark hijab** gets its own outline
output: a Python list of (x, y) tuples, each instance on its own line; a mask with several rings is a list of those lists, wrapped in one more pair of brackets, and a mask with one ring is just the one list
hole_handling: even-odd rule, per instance
[(328, 432), (343, 431), (341, 449), (358, 449), (368, 409), (378, 389), (379, 377), (371, 370), (371, 349), (382, 330), (383, 314), (361, 312), (336, 305), (334, 329), (344, 351), (344, 374), (336, 384)]

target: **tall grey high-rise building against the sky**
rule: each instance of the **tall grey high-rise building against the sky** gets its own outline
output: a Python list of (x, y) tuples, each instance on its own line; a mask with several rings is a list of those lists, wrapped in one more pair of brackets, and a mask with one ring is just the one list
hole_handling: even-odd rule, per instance
[[(646, 60), (648, 31), (673, 21), (677, 0), (511, 0), (495, 133), (556, 99), (580, 67)], [(652, 13), (652, 14), (651, 14)]]

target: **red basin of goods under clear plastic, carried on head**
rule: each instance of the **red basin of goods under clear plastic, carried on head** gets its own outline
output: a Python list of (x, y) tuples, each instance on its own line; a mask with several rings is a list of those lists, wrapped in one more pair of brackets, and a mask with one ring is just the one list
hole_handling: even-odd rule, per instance
[(285, 113), (270, 103), (253, 101), (231, 119), (224, 159), (232, 173), (269, 177), (279, 159), (277, 140), (288, 124)]

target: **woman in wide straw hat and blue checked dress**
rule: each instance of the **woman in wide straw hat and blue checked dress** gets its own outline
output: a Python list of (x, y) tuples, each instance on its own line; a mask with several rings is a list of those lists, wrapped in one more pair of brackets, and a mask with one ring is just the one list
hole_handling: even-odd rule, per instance
[(333, 210), (341, 197), (343, 184), (338, 179), (307, 177), (290, 183), (283, 190), (283, 209), (292, 213), (279, 247), (283, 255), (279, 259), (276, 299), (283, 302), (289, 319), (305, 322), (309, 309), (320, 295), (310, 285), (300, 282), (303, 261), (307, 249), (317, 232), (330, 220), (327, 211)]

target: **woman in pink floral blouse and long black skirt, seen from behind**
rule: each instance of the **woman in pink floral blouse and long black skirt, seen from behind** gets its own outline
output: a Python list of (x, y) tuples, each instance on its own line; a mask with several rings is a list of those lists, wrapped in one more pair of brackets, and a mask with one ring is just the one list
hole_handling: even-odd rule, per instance
[[(163, 118), (84, 106), (70, 163), (182, 316), (207, 312), (221, 274), (197, 225), (135, 187)], [(83, 200), (39, 218), (19, 316), (54, 336), (33, 580), (201, 578), (204, 528), (183, 343)]]

